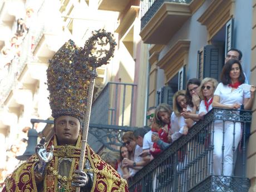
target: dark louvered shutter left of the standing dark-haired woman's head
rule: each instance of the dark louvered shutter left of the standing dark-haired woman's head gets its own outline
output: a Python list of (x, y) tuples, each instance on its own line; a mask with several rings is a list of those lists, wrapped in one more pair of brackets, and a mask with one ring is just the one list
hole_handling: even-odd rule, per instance
[(223, 46), (204, 46), (203, 78), (212, 77), (219, 81), (219, 76), (224, 64)]

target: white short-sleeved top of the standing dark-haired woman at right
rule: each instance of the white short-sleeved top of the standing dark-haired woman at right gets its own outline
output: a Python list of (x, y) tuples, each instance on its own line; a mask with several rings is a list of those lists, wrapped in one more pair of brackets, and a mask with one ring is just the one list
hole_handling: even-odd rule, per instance
[(232, 91), (232, 87), (219, 83), (214, 95), (218, 95), (220, 97), (220, 104), (233, 105), (237, 103), (242, 105), (244, 98), (250, 98), (250, 91), (243, 90), (241, 85)]

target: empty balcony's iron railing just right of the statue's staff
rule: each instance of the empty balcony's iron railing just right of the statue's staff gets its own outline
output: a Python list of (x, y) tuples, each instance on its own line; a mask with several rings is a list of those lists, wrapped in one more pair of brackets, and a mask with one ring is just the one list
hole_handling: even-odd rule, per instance
[(122, 135), (132, 131), (135, 84), (108, 82), (92, 104), (88, 142), (93, 150), (101, 146), (119, 151)]

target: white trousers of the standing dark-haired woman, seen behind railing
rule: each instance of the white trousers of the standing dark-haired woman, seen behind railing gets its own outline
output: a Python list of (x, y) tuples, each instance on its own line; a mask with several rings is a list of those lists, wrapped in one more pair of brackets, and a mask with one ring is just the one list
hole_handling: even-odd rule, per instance
[[(235, 125), (235, 126), (234, 126)], [(223, 133), (224, 132), (224, 133)], [(213, 150), (213, 174), (221, 175), (223, 163), (223, 175), (231, 176), (233, 171), (233, 154), (237, 150), (241, 134), (240, 122), (226, 121), (214, 124), (214, 150)], [(224, 139), (224, 142), (223, 142)], [(224, 145), (224, 151), (222, 147)], [(234, 147), (234, 149), (233, 149)], [(222, 158), (223, 157), (223, 158)]]

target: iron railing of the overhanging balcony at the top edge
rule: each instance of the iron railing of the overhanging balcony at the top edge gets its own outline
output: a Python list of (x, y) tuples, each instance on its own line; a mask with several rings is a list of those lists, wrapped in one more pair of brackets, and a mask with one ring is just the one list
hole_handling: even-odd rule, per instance
[(141, 29), (146, 26), (164, 2), (189, 4), (192, 0), (141, 0)]

